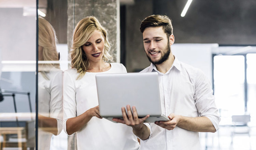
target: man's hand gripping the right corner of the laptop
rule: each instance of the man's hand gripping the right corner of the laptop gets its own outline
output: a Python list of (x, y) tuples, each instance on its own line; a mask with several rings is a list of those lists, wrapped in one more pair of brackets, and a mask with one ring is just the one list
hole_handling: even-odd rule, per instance
[(179, 116), (170, 114), (168, 116), (168, 118), (170, 119), (170, 121), (156, 121), (155, 124), (161, 126), (162, 128), (165, 128), (167, 130), (173, 130), (179, 122)]

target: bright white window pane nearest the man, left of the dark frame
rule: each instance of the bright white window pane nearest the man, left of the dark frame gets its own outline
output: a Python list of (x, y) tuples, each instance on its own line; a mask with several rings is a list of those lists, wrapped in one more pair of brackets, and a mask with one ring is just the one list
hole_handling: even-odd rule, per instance
[(244, 59), (242, 55), (213, 58), (214, 95), (220, 113), (244, 114)]

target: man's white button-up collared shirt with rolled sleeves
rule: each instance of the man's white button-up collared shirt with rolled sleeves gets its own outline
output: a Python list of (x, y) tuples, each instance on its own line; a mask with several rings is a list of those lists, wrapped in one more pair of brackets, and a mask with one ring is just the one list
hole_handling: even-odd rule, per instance
[[(208, 117), (218, 130), (220, 117), (214, 102), (209, 79), (195, 67), (174, 59), (165, 74), (157, 71), (154, 64), (141, 72), (158, 72), (161, 108), (163, 114), (171, 113), (186, 117)], [(151, 91), (153, 92), (153, 91)], [(150, 102), (149, 102), (150, 103)], [(151, 135), (141, 140), (141, 150), (200, 150), (199, 133), (176, 126), (166, 130), (154, 123), (145, 123)]]

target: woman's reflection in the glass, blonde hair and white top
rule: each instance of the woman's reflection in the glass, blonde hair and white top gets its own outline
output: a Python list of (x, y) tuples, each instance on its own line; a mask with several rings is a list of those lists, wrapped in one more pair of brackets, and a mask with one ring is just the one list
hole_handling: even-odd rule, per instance
[(38, 20), (38, 149), (49, 150), (52, 135), (62, 130), (62, 78), (55, 30), (45, 19)]

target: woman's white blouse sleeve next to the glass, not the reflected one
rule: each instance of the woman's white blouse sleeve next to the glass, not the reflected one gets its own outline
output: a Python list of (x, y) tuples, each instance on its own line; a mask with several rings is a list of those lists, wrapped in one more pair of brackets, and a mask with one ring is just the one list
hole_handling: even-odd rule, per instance
[[(75, 84), (68, 71), (63, 75), (63, 130), (67, 133), (66, 122), (76, 117)], [(68, 135), (68, 133), (67, 133)]]

